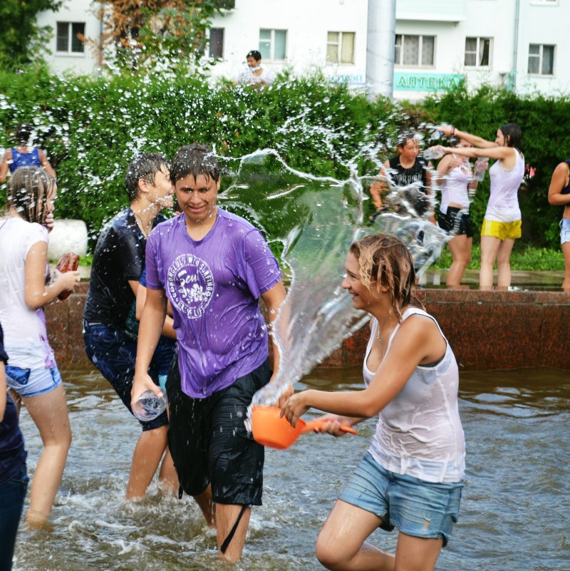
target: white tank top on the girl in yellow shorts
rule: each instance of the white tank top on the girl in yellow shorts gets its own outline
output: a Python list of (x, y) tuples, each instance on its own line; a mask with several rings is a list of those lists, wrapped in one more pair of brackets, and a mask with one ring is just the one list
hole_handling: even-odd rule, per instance
[(524, 177), (524, 157), (517, 149), (513, 150), (517, 162), (512, 169), (504, 169), (499, 160), (489, 169), (491, 196), (487, 202), (485, 220), (515, 222), (521, 219), (518, 193)]

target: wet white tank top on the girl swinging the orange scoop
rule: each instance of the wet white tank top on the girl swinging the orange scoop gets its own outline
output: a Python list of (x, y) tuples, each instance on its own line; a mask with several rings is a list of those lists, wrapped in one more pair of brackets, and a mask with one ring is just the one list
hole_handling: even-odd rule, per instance
[[(423, 309), (408, 308), (403, 319), (411, 315), (433, 319)], [(398, 324), (388, 341), (390, 351)], [(372, 334), (366, 349), (363, 375), (368, 386), (374, 376), (366, 363), (378, 329), (373, 319)], [(457, 361), (447, 348), (435, 366), (416, 367), (403, 389), (378, 415), (376, 433), (369, 448), (376, 462), (386, 470), (407, 474), (427, 482), (459, 482), (465, 475), (465, 438), (457, 407), (459, 371)]]

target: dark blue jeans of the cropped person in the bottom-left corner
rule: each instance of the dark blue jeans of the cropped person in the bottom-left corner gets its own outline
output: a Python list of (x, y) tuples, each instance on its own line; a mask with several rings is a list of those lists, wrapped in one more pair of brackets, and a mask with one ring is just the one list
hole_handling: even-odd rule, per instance
[(14, 478), (0, 484), (0, 571), (10, 571), (18, 524), (28, 489), (26, 464)]

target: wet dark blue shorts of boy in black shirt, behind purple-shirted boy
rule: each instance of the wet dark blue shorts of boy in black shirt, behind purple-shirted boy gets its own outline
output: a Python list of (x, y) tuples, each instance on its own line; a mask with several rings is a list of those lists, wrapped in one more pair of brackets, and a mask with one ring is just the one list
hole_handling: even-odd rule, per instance
[[(122, 331), (103, 324), (83, 324), (83, 341), (89, 360), (99, 369), (115, 389), (130, 413), (130, 390), (133, 389), (137, 343), (128, 339)], [(153, 360), (148, 374), (158, 382), (158, 367)], [(152, 421), (139, 421), (143, 431), (150, 431), (168, 424), (166, 411)]]

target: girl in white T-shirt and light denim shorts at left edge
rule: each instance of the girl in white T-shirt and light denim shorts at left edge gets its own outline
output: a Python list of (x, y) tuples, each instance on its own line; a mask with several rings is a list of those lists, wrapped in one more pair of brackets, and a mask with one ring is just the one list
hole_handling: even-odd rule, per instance
[(43, 451), (31, 487), (26, 523), (46, 523), (56, 496), (71, 428), (61, 376), (48, 344), (43, 307), (73, 290), (79, 272), (48, 274), (48, 227), (53, 224), (56, 180), (38, 167), (10, 178), (9, 217), (0, 221), (0, 322), (8, 354), (8, 385), (40, 431)]

